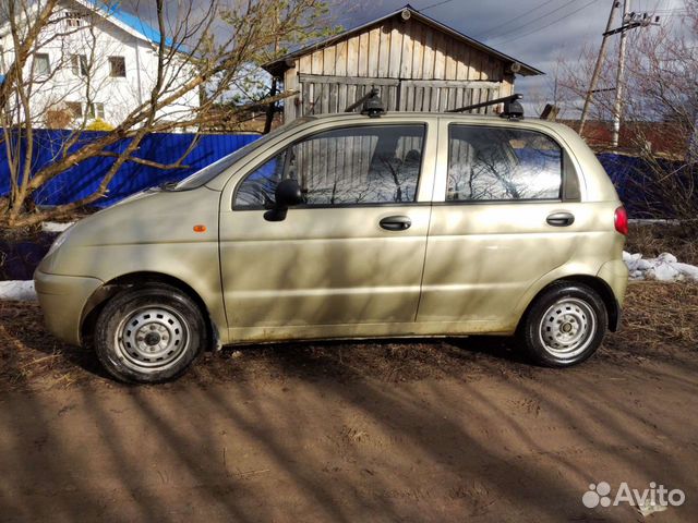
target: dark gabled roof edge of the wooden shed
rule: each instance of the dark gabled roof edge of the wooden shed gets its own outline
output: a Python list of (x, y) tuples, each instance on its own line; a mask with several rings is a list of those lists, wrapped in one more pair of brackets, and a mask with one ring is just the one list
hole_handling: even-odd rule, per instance
[(353, 36), (356, 34), (359, 33), (363, 33), (365, 29), (368, 29), (369, 27), (372, 27), (374, 25), (381, 24), (394, 16), (400, 16), (402, 14), (404, 11), (409, 11), (410, 13), (410, 17), (413, 17), (414, 20), (418, 20), (431, 27), (434, 27), (437, 31), (441, 31), (460, 41), (462, 41), (464, 44), (467, 44), (469, 46), (472, 46), (477, 49), (480, 49), (483, 52), (486, 52), (489, 54), (492, 54), (493, 57), (498, 58), (500, 60), (503, 61), (507, 61), (507, 62), (517, 62), (521, 65), (521, 70), (519, 71), (518, 74), (522, 75), (522, 76), (533, 76), (533, 75), (538, 75), (538, 74), (545, 74), (542, 71), (540, 71), (539, 69), (533, 68), (532, 65), (528, 65), (524, 62), (521, 62), (520, 60), (517, 60), (513, 57), (509, 57), (508, 54), (505, 54), (503, 52), (497, 51), (496, 49), (493, 49), (492, 47), (482, 44), (481, 41), (476, 40), (474, 38), (470, 38), (467, 35), (464, 35), (462, 33), (460, 33), (459, 31), (454, 29), (453, 27), (449, 27), (445, 24), (442, 24), (441, 22), (438, 22), (437, 20), (434, 20), (430, 16), (426, 16), (423, 13), (420, 13), (419, 11), (417, 11), (414, 8), (412, 8), (409, 3), (407, 5), (405, 5), (404, 8), (398, 9), (397, 11), (394, 11), (389, 14), (386, 14), (385, 16), (381, 17), (381, 19), (376, 19), (373, 20), (371, 22), (368, 22), (363, 25), (360, 25), (358, 27), (353, 27), (351, 29), (345, 31), (342, 33), (339, 33), (337, 35), (333, 35), (330, 37), (327, 38), (323, 38), (322, 40), (315, 41), (309, 46), (305, 46), (301, 49), (298, 49), (293, 52), (290, 52), (273, 62), (266, 63), (263, 65), (263, 68), (268, 71), (270, 74), (275, 75), (275, 76), (280, 76), (281, 74), (284, 74), (284, 72), (289, 68), (288, 62), (292, 59), (309, 54), (313, 51), (316, 51), (317, 49), (322, 49), (323, 47), (326, 46), (330, 46), (333, 44), (336, 44), (347, 37)]

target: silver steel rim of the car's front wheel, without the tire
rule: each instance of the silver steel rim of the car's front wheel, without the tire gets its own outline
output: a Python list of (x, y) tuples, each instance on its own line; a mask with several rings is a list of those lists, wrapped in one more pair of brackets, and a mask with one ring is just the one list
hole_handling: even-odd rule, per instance
[(189, 328), (171, 308), (145, 307), (119, 324), (115, 341), (127, 366), (141, 373), (163, 370), (186, 352)]

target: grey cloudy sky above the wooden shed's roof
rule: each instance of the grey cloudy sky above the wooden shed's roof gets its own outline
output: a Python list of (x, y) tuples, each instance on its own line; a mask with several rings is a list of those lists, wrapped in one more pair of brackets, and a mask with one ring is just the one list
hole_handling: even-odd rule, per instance
[[(406, 0), (334, 0), (338, 22), (346, 28), (393, 12)], [(586, 45), (598, 49), (612, 0), (412, 0), (418, 11), (547, 73), (519, 77), (516, 90), (546, 93), (558, 58), (574, 63)], [(353, 5), (353, 8), (350, 8)], [(630, 11), (676, 23), (684, 0), (633, 0)], [(340, 14), (344, 13), (344, 14)], [(616, 22), (619, 16), (616, 15)], [(617, 23), (616, 23), (617, 25)], [(636, 29), (639, 31), (639, 29)], [(647, 31), (651, 31), (647, 29)]]

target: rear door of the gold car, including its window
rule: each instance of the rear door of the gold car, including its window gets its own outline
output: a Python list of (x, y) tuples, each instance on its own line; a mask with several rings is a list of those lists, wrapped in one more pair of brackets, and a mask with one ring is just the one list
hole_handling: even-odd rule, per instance
[(444, 119), (440, 137), (418, 320), (507, 330), (527, 289), (592, 240), (580, 235), (574, 167), (553, 137), (521, 122)]

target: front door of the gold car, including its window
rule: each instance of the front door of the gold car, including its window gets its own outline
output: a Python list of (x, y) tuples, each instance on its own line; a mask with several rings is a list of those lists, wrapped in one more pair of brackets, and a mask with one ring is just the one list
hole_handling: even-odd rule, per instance
[[(342, 125), (279, 146), (233, 179), (220, 217), (231, 340), (381, 336), (412, 324), (431, 210), (428, 147), (424, 123)], [(305, 202), (267, 221), (284, 179), (299, 182)]]

